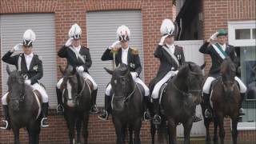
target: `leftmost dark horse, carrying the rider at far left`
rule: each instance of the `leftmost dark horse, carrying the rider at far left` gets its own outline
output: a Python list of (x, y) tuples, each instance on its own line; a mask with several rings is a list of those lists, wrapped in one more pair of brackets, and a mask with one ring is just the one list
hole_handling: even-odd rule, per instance
[(9, 98), (7, 98), (7, 102), (9, 102), (10, 124), (14, 132), (14, 143), (20, 143), (19, 129), (26, 127), (30, 144), (37, 144), (39, 143), (41, 130), (42, 114), (40, 109), (42, 100), (41, 98), (35, 98), (32, 88), (24, 83), (20, 71), (10, 71), (9, 66), (6, 70), (9, 74), (7, 81)]

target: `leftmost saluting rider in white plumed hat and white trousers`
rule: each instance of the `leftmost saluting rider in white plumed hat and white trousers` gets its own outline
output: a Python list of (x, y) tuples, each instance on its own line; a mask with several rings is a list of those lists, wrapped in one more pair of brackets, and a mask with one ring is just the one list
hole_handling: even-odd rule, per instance
[[(10, 65), (16, 66), (16, 69), (21, 72), (25, 78), (25, 84), (31, 86), (33, 90), (38, 90), (42, 96), (42, 121), (41, 126), (47, 127), (47, 115), (48, 115), (48, 95), (46, 94), (45, 88), (39, 84), (39, 80), (42, 78), (43, 69), (42, 61), (37, 54), (34, 54), (33, 51), (33, 42), (35, 41), (36, 35), (33, 30), (26, 30), (23, 34), (23, 44), (19, 43), (9, 50), (3, 57), (2, 61)], [(14, 54), (14, 51), (23, 50), (23, 53)], [(8, 103), (6, 98), (9, 92), (2, 96), (2, 106), (4, 111), (5, 120), (1, 125), (1, 129), (10, 129), (10, 118), (8, 112)]]

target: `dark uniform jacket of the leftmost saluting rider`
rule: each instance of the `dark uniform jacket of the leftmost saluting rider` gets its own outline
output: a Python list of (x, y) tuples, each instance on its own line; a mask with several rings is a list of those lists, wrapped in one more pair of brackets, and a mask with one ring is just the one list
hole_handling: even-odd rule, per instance
[(30, 79), (31, 81), (31, 85), (34, 85), (34, 83), (38, 82), (38, 80), (42, 78), (42, 75), (43, 75), (42, 61), (38, 58), (38, 55), (34, 54), (30, 63), (30, 69), (27, 70), (26, 59), (24, 54), (17, 54), (12, 57), (10, 56), (11, 54), (13, 53), (8, 51), (2, 57), (2, 61), (9, 63), (10, 65), (15, 65), (16, 69), (18, 70), (18, 57), (22, 57), (21, 72), (22, 74), (27, 75), (27, 78)]

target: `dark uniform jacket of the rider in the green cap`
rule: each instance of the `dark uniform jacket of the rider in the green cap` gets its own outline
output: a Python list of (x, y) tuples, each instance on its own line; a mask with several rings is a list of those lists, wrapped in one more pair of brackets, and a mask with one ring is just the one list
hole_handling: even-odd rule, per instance
[[(220, 66), (223, 62), (223, 59), (219, 56), (219, 54), (214, 50), (213, 46), (209, 46), (209, 42), (205, 42), (199, 49), (199, 51), (202, 54), (210, 54), (211, 58), (211, 67), (209, 71), (210, 77), (218, 77), (218, 74), (220, 72)], [(234, 52), (234, 46), (226, 45), (226, 54), (231, 58), (231, 60), (234, 62), (235, 58), (235, 52)]]

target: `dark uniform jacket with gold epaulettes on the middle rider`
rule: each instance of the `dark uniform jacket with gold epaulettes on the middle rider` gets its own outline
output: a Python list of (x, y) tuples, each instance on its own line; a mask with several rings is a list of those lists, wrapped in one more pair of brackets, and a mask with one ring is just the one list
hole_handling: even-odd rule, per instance
[[(111, 50), (109, 50), (109, 49), (106, 49), (102, 55), (102, 61), (107, 61), (107, 60), (113, 60), (113, 54), (111, 53)], [(116, 54), (116, 56), (115, 56), (116, 66), (118, 66), (120, 63), (122, 63), (122, 48), (118, 49), (118, 54)], [(137, 72), (138, 76), (139, 76), (139, 74), (141, 74), (142, 65), (141, 65), (141, 61), (138, 56), (138, 50), (129, 48), (128, 55), (127, 55), (127, 63), (128, 63), (130, 71)]]

